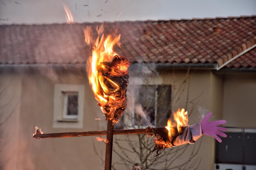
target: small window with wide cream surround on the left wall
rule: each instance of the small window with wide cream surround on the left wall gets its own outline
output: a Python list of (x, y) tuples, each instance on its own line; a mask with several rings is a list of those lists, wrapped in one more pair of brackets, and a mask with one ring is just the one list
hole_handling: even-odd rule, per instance
[(54, 128), (83, 127), (84, 85), (56, 84)]

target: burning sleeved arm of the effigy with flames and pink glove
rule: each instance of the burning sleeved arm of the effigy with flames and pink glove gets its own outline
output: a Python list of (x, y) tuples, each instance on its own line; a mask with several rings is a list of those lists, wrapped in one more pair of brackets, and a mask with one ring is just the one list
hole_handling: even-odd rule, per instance
[[(173, 117), (175, 123), (168, 120), (168, 125), (165, 128), (159, 128), (155, 130), (155, 148), (154, 150), (164, 150), (165, 148), (171, 148), (173, 146), (180, 146), (183, 144), (193, 144), (202, 135), (209, 135), (214, 137), (218, 142), (222, 142), (220, 137), (227, 137), (223, 131), (227, 131), (224, 127), (219, 125), (225, 124), (225, 120), (208, 121), (212, 113), (207, 114), (201, 123), (189, 126), (187, 112), (178, 110), (174, 113)], [(168, 134), (168, 135), (167, 135)]]

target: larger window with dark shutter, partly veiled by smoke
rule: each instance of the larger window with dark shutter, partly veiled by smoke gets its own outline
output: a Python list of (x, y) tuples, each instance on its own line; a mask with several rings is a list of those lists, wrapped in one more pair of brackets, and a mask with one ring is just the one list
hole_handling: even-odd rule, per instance
[[(129, 95), (137, 94), (138, 97), (130, 99), (132, 96)], [(138, 89), (128, 86), (127, 95), (128, 106), (120, 120), (124, 122), (125, 128), (166, 125), (171, 115), (171, 85), (141, 85)]]

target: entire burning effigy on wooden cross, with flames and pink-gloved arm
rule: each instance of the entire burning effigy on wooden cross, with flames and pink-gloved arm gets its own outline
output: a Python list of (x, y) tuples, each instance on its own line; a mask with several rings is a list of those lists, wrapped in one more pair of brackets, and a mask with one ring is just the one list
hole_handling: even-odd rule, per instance
[[(65, 8), (68, 23), (72, 23), (71, 13)], [(128, 129), (114, 130), (114, 124), (118, 122), (119, 117), (126, 109), (126, 89), (128, 86), (128, 67), (130, 63), (125, 57), (118, 55), (113, 47), (119, 45), (121, 35), (114, 38), (111, 35), (105, 37), (103, 33), (103, 24), (97, 27), (98, 36), (93, 37), (91, 26), (84, 30), (85, 42), (92, 47), (92, 53), (87, 60), (87, 72), (89, 83), (92, 86), (95, 99), (101, 111), (105, 113), (108, 122), (107, 130), (102, 131), (85, 131), (85, 132), (63, 132), (44, 134), (36, 127), (34, 138), (55, 138), (55, 137), (79, 137), (79, 136), (96, 136), (107, 135), (107, 138), (97, 137), (97, 140), (106, 142), (105, 170), (111, 170), (112, 161), (112, 141), (113, 135), (124, 134), (149, 134), (154, 137), (157, 155), (166, 148), (172, 148), (183, 144), (193, 144), (202, 135), (209, 135), (221, 142), (220, 137), (227, 137), (227, 129), (219, 127), (225, 124), (225, 120), (208, 121), (212, 113), (209, 113), (204, 119), (192, 126), (188, 124), (188, 113), (185, 109), (179, 109), (173, 115), (174, 122), (171, 118), (165, 128), (148, 127), (145, 129)], [(217, 136), (218, 135), (218, 136)]]

